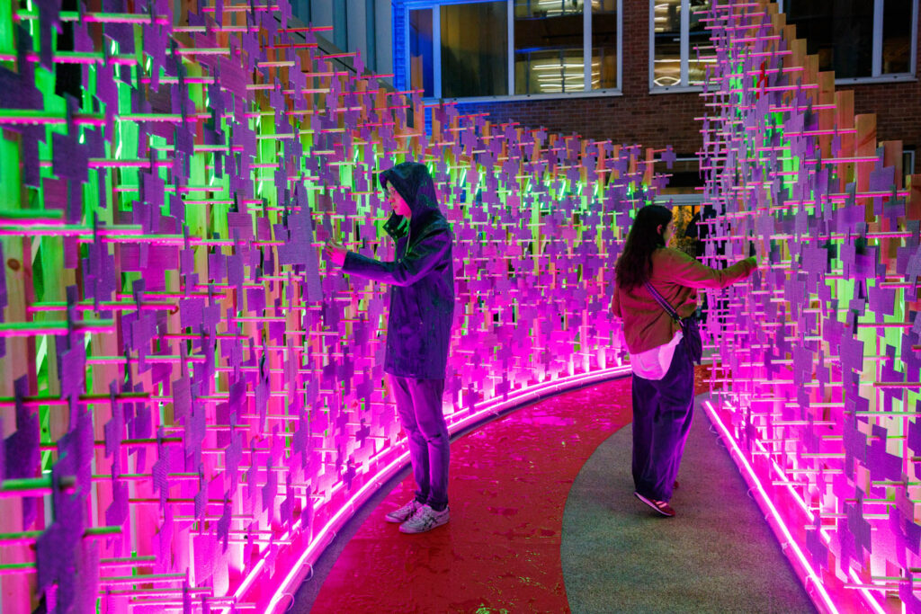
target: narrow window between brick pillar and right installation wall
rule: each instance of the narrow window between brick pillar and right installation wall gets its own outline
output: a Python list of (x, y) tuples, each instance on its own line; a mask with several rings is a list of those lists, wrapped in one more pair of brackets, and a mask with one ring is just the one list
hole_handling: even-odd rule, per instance
[(650, 0), (652, 87), (700, 86), (713, 53), (702, 19), (712, 0)]

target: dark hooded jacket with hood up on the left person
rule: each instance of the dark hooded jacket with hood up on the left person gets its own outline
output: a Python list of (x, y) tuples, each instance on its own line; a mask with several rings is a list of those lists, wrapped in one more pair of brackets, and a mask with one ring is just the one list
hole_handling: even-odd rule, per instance
[(448, 220), (438, 210), (435, 184), (425, 165), (403, 162), (380, 173), (413, 212), (391, 214), (384, 224), (396, 241), (395, 259), (381, 262), (348, 252), (343, 271), (391, 284), (384, 371), (416, 379), (445, 377), (454, 318), (454, 267)]

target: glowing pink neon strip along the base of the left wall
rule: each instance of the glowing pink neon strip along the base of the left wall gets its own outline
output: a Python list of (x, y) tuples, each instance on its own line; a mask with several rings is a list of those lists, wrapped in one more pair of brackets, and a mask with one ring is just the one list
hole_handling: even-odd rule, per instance
[[(463, 430), (472, 423), (479, 422), (484, 419), (488, 414), (498, 414), (502, 411), (505, 411), (515, 405), (523, 405), (529, 400), (541, 396), (543, 393), (553, 390), (554, 392), (563, 392), (567, 388), (575, 388), (579, 385), (589, 384), (593, 381), (598, 381), (601, 379), (608, 379), (611, 377), (622, 377), (630, 373), (630, 365), (617, 366), (611, 369), (604, 369), (603, 371), (593, 371), (591, 373), (580, 374), (577, 376), (561, 377), (551, 382), (543, 382), (542, 384), (537, 384), (530, 388), (522, 388), (517, 390), (515, 393), (510, 394), (506, 400), (485, 400), (481, 401), (474, 405), (476, 411), (474, 411), (470, 416), (464, 418), (463, 420), (453, 423), (449, 427), (450, 434), (455, 434), (458, 431)], [(348, 520), (347, 517), (344, 517), (345, 512), (352, 510), (354, 513), (355, 505), (367, 498), (369, 490), (372, 486), (379, 486), (380, 483), (387, 481), (391, 478), (391, 475), (395, 473), (398, 469), (401, 469), (406, 462), (409, 460), (409, 452), (404, 452), (400, 457), (395, 458), (387, 467), (378, 471), (376, 475), (369, 478), (365, 485), (358, 489), (358, 492), (349, 499), (332, 518), (326, 523), (326, 526), (323, 527), (319, 533), (311, 541), (310, 545), (301, 553), (297, 558), (297, 562), (292, 565), (291, 570), (286, 574), (285, 579), (279, 583), (278, 587), (275, 589), (275, 592), (272, 596), (272, 600), (269, 601), (267, 611), (274, 612), (276, 608), (279, 607), (282, 597), (286, 594), (289, 594), (290, 589), (299, 584), (301, 581), (301, 570), (304, 568), (308, 561), (313, 559), (314, 554), (318, 554), (319, 546), (323, 543), (323, 540), (326, 538), (327, 534), (330, 531), (338, 529), (344, 525)], [(351, 515), (349, 515), (351, 516)], [(293, 534), (297, 527), (299, 527), (300, 521), (291, 528), (291, 533)], [(246, 577), (246, 579), (239, 585), (237, 592), (234, 593), (234, 597), (239, 600), (240, 597), (249, 590), (253, 581), (258, 576), (259, 572), (262, 570), (262, 563), (264, 559), (256, 565), (252, 572)]]

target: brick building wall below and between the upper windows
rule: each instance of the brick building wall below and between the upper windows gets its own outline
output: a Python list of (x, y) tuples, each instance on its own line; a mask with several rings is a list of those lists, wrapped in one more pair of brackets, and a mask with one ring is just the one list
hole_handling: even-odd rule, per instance
[[(614, 143), (672, 145), (679, 155), (694, 156), (703, 143), (700, 122), (694, 121), (705, 112), (703, 98), (697, 92), (649, 94), (648, 19), (647, 2), (624, 0), (621, 96), (483, 102), (462, 104), (459, 110), (489, 113), (494, 122), (511, 120)], [(877, 114), (880, 141), (901, 139), (906, 147), (921, 145), (921, 84), (916, 80), (838, 88), (855, 90), (856, 113)], [(921, 172), (921, 163), (915, 165), (915, 172)]]

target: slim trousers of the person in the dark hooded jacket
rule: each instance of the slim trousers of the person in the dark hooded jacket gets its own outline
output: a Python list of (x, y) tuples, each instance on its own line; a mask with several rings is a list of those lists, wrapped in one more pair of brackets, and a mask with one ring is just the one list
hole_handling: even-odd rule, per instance
[(409, 439), (416, 484), (415, 500), (435, 510), (448, 505), (448, 424), (441, 408), (444, 379), (414, 379), (388, 374), (400, 423)]

